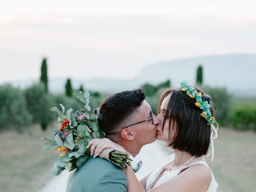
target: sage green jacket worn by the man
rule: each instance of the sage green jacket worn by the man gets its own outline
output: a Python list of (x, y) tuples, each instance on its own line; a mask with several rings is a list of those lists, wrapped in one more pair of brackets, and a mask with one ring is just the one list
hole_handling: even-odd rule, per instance
[(108, 160), (91, 156), (70, 174), (66, 192), (127, 192), (127, 178)]

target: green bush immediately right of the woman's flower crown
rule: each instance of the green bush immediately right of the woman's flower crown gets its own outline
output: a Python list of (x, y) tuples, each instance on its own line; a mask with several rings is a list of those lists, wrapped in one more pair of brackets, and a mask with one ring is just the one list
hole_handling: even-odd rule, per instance
[(226, 88), (206, 87), (207, 93), (212, 97), (217, 109), (216, 121), (228, 125), (231, 116), (232, 96)]

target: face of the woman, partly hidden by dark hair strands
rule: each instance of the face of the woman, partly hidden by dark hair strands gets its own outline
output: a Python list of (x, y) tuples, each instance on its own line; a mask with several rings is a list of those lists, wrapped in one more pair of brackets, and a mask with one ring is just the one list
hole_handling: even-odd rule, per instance
[[(174, 132), (171, 132), (171, 135), (169, 137), (169, 112), (166, 111), (166, 108), (167, 108), (167, 104), (168, 104), (168, 101), (170, 100), (170, 94), (168, 96), (166, 96), (166, 98), (164, 98), (162, 104), (161, 104), (161, 107), (160, 107), (160, 114), (158, 114), (157, 118), (161, 121), (161, 124), (159, 124), (157, 126), (157, 139), (158, 140), (162, 140), (162, 141), (165, 141), (165, 142), (170, 142), (173, 137), (174, 137)], [(167, 116), (166, 118), (166, 121), (165, 121), (165, 124), (164, 124), (164, 129), (162, 130), (162, 127), (163, 127), (163, 122), (164, 122), (164, 116)], [(171, 124), (172, 126), (172, 124)]]

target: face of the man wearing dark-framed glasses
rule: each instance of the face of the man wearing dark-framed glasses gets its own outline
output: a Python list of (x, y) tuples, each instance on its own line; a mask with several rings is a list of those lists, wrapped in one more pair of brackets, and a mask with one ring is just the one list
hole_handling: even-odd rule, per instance
[[(134, 124), (151, 118), (151, 110), (152, 109), (148, 102), (144, 100), (142, 105), (138, 108), (134, 115), (132, 115), (129, 123)], [(136, 140), (141, 146), (152, 143), (156, 140), (157, 125), (160, 124), (160, 121), (154, 114), (152, 114), (152, 117), (153, 124), (152, 120), (147, 120), (128, 127), (128, 129), (134, 133), (134, 140)]]

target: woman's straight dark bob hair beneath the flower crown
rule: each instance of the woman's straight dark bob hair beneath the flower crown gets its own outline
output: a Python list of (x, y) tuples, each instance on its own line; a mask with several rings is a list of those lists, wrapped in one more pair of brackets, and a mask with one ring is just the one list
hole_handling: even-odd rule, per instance
[[(194, 88), (202, 93), (202, 100), (208, 101), (212, 116), (215, 116), (212, 98), (204, 94), (200, 88)], [(168, 95), (170, 95), (170, 99), (165, 106), (168, 115), (164, 116), (162, 129), (164, 129), (166, 121), (169, 120), (169, 138), (172, 133), (174, 138), (169, 139), (167, 146), (186, 151), (191, 155), (207, 154), (210, 145), (211, 126), (206, 125), (205, 118), (200, 115), (202, 110), (195, 105), (196, 100), (190, 98), (186, 92), (180, 89), (166, 89), (159, 99), (158, 114), (164, 98)]]

